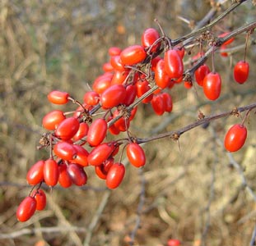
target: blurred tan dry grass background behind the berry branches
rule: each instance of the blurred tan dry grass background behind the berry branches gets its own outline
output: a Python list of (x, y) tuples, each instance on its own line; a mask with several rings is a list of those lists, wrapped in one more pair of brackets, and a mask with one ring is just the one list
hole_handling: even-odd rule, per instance
[[(235, 117), (212, 122), (207, 129), (191, 130), (179, 139), (145, 145), (147, 165), (143, 171), (128, 167), (123, 184), (114, 191), (89, 171), (88, 187), (54, 189), (48, 206), (26, 223), (16, 221), (16, 207), (30, 192), (26, 171), (38, 159), (36, 151), (41, 119), (55, 108), (47, 102), (52, 89), (70, 92), (81, 99), (87, 84), (101, 73), (107, 49), (140, 43), (140, 35), (157, 18), (166, 34), (178, 38), (189, 26), (177, 16), (200, 21), (210, 9), (208, 1), (18, 1), (0, 2), (0, 244), (86, 245), (95, 213), (105, 201), (100, 221), (88, 245), (128, 245), (136, 225), (142, 182), (145, 201), (141, 228), (135, 245), (166, 245), (176, 238), (183, 246), (248, 245), (255, 225), (255, 203), (230, 165), (221, 146)], [(200, 11), (198, 11), (200, 10)], [(215, 30), (253, 21), (255, 7), (245, 3)], [(236, 39), (237, 45), (244, 36)], [(255, 34), (252, 35), (255, 43)], [(242, 59), (243, 50), (232, 59), (216, 56), (223, 78), (223, 94), (216, 104), (208, 103), (197, 88), (182, 85), (172, 90), (174, 112), (154, 116), (150, 107), (140, 107), (131, 130), (138, 137), (152, 131), (175, 130), (196, 121), (198, 109), (206, 114), (224, 112), (255, 102), (256, 48), (249, 48), (249, 81), (240, 86), (232, 80), (230, 66)], [(211, 62), (208, 62), (211, 64)], [(251, 114), (244, 148), (233, 157), (240, 164), (249, 187), (256, 189), (256, 119)], [(102, 202), (103, 201), (103, 202)], [(68, 227), (69, 231), (54, 231)], [(73, 231), (73, 227), (80, 231)], [(44, 230), (50, 227), (50, 231)], [(12, 238), (14, 232), (35, 229), (32, 234)], [(11, 234), (9, 239), (3, 235)], [(202, 237), (204, 235), (204, 237)], [(40, 244), (39, 244), (40, 243)]]

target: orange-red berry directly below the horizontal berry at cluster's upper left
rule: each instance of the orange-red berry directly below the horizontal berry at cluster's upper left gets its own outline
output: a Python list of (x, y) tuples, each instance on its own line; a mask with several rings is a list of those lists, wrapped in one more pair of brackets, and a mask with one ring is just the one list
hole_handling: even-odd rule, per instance
[(47, 130), (55, 130), (58, 124), (64, 121), (65, 119), (66, 116), (64, 116), (64, 113), (62, 111), (54, 110), (44, 116), (43, 126)]

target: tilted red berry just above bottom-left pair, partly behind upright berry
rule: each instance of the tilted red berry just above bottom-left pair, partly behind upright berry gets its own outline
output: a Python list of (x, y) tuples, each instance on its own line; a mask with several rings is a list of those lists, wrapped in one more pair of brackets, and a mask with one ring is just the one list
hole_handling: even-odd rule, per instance
[(36, 162), (27, 172), (26, 180), (30, 185), (37, 185), (44, 181), (44, 161)]

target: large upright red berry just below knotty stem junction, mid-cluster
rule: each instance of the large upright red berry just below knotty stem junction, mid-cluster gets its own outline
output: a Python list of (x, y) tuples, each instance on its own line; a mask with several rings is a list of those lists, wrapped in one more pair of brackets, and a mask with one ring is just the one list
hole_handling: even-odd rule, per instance
[(91, 146), (97, 146), (105, 139), (108, 124), (104, 119), (96, 119), (92, 122), (87, 133), (87, 143)]

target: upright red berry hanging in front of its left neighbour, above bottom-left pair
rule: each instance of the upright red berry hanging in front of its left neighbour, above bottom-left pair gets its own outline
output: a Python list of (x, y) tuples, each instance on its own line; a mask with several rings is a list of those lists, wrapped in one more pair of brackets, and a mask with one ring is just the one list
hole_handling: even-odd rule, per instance
[(58, 183), (58, 164), (54, 159), (50, 158), (44, 162), (44, 182), (49, 186)]

